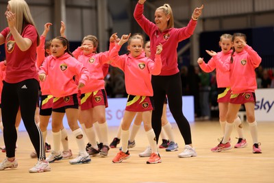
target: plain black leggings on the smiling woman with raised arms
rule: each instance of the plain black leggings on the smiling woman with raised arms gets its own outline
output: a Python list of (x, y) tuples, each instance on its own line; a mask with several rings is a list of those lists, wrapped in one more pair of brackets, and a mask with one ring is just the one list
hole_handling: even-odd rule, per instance
[(182, 112), (182, 82), (179, 73), (176, 73), (175, 75), (152, 75), (151, 83), (153, 86), (153, 102), (155, 108), (152, 112), (151, 120), (156, 142), (158, 143), (162, 129), (162, 109), (164, 99), (167, 95), (169, 109), (184, 138), (184, 143), (186, 145), (192, 144), (190, 125)]

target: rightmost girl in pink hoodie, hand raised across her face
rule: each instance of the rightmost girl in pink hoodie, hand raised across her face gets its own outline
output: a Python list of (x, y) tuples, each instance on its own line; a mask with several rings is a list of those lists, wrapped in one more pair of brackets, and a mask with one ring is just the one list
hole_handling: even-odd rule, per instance
[[(258, 128), (255, 119), (255, 102), (257, 89), (255, 69), (260, 65), (262, 58), (256, 51), (247, 45), (245, 34), (235, 33), (232, 37), (232, 56), (225, 62), (216, 62), (221, 71), (229, 71), (230, 86), (232, 95), (230, 96), (227, 118), (225, 123), (225, 134), (219, 145), (214, 147), (216, 152), (232, 149), (229, 143), (229, 136), (233, 130), (233, 121), (242, 104), (245, 104), (247, 111), (247, 122), (253, 140), (253, 153), (260, 154), (260, 143), (258, 143)], [(211, 56), (216, 57), (216, 52), (212, 51)]]

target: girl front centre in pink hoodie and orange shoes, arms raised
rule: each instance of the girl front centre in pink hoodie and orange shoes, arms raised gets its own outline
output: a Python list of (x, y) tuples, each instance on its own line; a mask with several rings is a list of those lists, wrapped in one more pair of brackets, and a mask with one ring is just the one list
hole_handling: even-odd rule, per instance
[[(122, 162), (130, 157), (128, 150), (129, 126), (132, 123), (136, 112), (142, 112), (142, 120), (144, 121), (145, 132), (149, 140), (152, 153), (147, 160), (147, 164), (155, 164), (162, 162), (158, 154), (157, 143), (155, 141), (155, 133), (151, 127), (151, 114), (153, 110), (153, 89), (151, 85), (151, 75), (158, 75), (162, 69), (162, 61), (160, 53), (162, 45), (158, 45), (155, 52), (155, 60), (147, 58), (142, 54), (143, 41), (137, 36), (131, 38), (129, 35), (123, 35), (118, 44), (110, 51), (110, 60), (114, 66), (119, 67), (125, 73), (125, 89), (127, 90), (127, 106), (123, 116), (121, 141), (122, 149), (112, 159), (112, 162)], [(121, 46), (127, 42), (128, 55), (119, 56), (118, 52)]]

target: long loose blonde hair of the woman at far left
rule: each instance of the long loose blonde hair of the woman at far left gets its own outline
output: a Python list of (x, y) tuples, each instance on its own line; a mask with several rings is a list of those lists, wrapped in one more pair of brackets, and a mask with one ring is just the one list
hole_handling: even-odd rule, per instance
[[(34, 20), (32, 19), (32, 14), (30, 13), (29, 6), (27, 5), (26, 1), (24, 0), (10, 0), (8, 1), (8, 5), (10, 5), (10, 11), (15, 14), (16, 16), (16, 23), (15, 27), (18, 33), (21, 35), (23, 29), (26, 25), (34, 25)], [(37, 46), (40, 44), (39, 34), (37, 32)], [(10, 37), (11, 33), (8, 34), (8, 38)]]

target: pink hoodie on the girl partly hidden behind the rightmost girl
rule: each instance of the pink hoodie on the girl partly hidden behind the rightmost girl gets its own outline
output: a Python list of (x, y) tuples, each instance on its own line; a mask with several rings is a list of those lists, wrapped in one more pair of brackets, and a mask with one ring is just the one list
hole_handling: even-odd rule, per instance
[(206, 62), (199, 64), (201, 70), (203, 70), (206, 73), (210, 73), (214, 71), (214, 69), (216, 69), (216, 81), (217, 81), (218, 88), (230, 87), (230, 81), (229, 81), (229, 71), (225, 71), (225, 72), (220, 71), (216, 62), (223, 62), (227, 60), (227, 58), (231, 57), (231, 54), (232, 54), (232, 50), (228, 51), (227, 53), (223, 53), (223, 51), (220, 51), (217, 53), (216, 56), (210, 58), (207, 64)]

